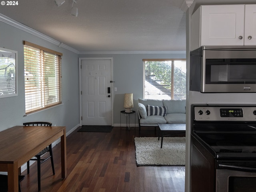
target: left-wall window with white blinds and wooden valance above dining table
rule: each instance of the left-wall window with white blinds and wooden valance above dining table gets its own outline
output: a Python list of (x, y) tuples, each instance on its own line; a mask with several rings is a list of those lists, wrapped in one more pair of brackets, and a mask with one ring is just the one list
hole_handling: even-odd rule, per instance
[(62, 53), (23, 44), (26, 114), (60, 104)]

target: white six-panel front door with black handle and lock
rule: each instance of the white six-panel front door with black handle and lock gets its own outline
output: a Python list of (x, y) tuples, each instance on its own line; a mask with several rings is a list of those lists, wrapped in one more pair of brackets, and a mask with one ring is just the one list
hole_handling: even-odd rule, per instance
[(112, 125), (112, 59), (80, 61), (82, 125)]

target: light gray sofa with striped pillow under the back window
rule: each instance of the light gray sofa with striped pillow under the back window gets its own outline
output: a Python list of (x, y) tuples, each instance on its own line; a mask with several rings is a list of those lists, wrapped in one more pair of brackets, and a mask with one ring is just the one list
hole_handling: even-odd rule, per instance
[(186, 123), (186, 100), (138, 99), (139, 133), (142, 126)]

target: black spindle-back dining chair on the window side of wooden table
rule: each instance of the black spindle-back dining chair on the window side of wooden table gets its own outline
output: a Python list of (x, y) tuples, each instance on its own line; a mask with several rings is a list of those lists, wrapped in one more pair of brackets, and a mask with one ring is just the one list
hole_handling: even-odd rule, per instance
[[(52, 126), (52, 123), (50, 122), (28, 122), (23, 123), (25, 126)], [(41, 159), (41, 156), (46, 154), (47, 152), (50, 153), (50, 155), (47, 158)], [(38, 178), (38, 191), (41, 190), (41, 167), (40, 165), (44, 163), (46, 160), (51, 159), (52, 162), (52, 173), (55, 174), (54, 171), (54, 164), (53, 164), (53, 157), (52, 157), (52, 144), (47, 146), (45, 149), (40, 151), (37, 155), (35, 155), (36, 159), (30, 159), (30, 161), (37, 161), (37, 178)], [(29, 161), (27, 162), (27, 172), (29, 174)]]

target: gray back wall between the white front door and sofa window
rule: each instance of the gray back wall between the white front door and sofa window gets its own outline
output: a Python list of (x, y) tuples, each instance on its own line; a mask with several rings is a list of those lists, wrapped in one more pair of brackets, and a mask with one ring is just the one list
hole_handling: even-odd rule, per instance
[[(120, 126), (120, 111), (124, 110), (124, 93), (133, 93), (134, 108), (137, 110), (138, 98), (143, 98), (143, 65), (142, 59), (185, 59), (186, 53), (181, 54), (84, 54), (79, 57), (112, 57), (113, 58), (113, 87), (117, 88), (114, 93), (114, 126)], [(123, 119), (124, 118), (124, 119)], [(125, 122), (122, 117), (122, 124)], [(134, 124), (134, 117), (131, 116), (130, 123)], [(136, 115), (136, 124), (138, 117)]]

